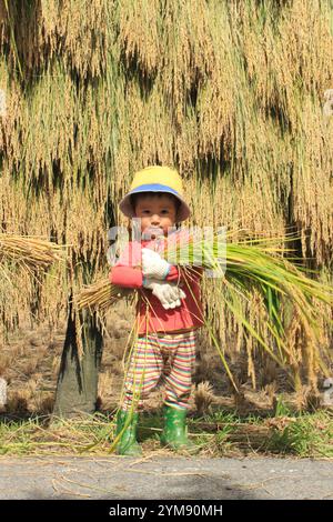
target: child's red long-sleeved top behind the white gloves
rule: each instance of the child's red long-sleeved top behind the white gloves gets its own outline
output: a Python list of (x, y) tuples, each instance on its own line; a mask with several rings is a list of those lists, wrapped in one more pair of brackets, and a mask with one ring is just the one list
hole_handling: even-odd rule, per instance
[(129, 242), (109, 274), (112, 284), (139, 290), (140, 298), (137, 308), (139, 335), (147, 332), (174, 332), (202, 327), (203, 311), (200, 291), (202, 269), (195, 267), (186, 269), (184, 273), (183, 268), (171, 265), (165, 281), (179, 281), (186, 298), (181, 300), (180, 307), (165, 310), (152, 291), (142, 287), (141, 249), (148, 247), (149, 243), (151, 247), (153, 241)]

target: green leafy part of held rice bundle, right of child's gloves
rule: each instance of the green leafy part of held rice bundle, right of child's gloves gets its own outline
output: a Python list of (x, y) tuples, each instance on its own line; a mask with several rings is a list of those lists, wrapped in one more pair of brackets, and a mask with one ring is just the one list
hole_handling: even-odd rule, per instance
[[(235, 322), (242, 325), (246, 337), (258, 341), (264, 351), (284, 369), (291, 367), (292, 370), (296, 370), (300, 363), (304, 362), (303, 359), (306, 359), (309, 378), (315, 388), (319, 369), (329, 374), (320, 353), (320, 347), (323, 344), (323, 322), (332, 331), (332, 320), (322, 317), (322, 309), (319, 304), (322, 303), (327, 309), (332, 308), (333, 288), (310, 279), (305, 269), (300, 265), (300, 260), (287, 257), (292, 250), (286, 244), (295, 240), (292, 234), (283, 238), (243, 239), (240, 242), (232, 242), (235, 234), (239, 234), (239, 231), (230, 232), (222, 238), (216, 234), (211, 241), (196, 240), (193, 237), (188, 244), (169, 249), (168, 260), (185, 264), (185, 271), (186, 264), (201, 264), (213, 270), (215, 277), (211, 291), (218, 295), (218, 301), (221, 305), (224, 304)], [(223, 241), (225, 242), (224, 251)], [(314, 272), (309, 271), (309, 275), (311, 274), (313, 275)], [(249, 315), (244, 313), (243, 307), (244, 302), (252, 303), (253, 297), (258, 305), (251, 314), (258, 315), (256, 327), (251, 322), (250, 313)], [(286, 307), (292, 309), (292, 321), (296, 319), (301, 328), (297, 343), (290, 335), (290, 324), (284, 320)], [(236, 389), (224, 358), (224, 350), (222, 351), (209, 319), (205, 319), (205, 327)], [(322, 351), (325, 351), (325, 348)], [(253, 375), (255, 385), (253, 361), (249, 350), (248, 355), (249, 375)], [(327, 359), (332, 357), (329, 352), (325, 355)]]

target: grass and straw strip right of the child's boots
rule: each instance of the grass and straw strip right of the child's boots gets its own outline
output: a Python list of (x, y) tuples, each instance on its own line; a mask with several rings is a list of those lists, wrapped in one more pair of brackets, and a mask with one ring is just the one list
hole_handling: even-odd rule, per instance
[[(208, 428), (211, 425), (214, 430), (214, 424), (218, 430), (208, 439)], [(201, 432), (202, 452), (212, 456), (241, 452), (333, 459), (332, 411), (293, 413), (282, 401), (278, 401), (275, 413), (271, 416), (250, 414), (241, 418), (222, 411), (203, 420), (193, 420), (190, 430)]]

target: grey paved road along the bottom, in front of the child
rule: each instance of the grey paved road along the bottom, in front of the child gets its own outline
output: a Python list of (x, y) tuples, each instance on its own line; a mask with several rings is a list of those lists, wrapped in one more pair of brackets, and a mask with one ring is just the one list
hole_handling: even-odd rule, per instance
[(0, 499), (333, 499), (333, 461), (0, 458)]

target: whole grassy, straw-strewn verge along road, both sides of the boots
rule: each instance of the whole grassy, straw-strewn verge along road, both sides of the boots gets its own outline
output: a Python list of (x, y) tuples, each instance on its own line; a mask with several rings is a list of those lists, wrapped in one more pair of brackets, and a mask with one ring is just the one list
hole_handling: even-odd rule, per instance
[[(140, 418), (139, 441), (144, 453), (161, 451), (162, 412)], [(189, 416), (189, 436), (201, 456), (244, 454), (333, 458), (333, 412), (293, 413), (282, 401), (271, 416), (245, 416), (225, 410)], [(84, 419), (31, 418), (0, 422), (0, 455), (110, 455), (114, 434), (112, 415)], [(165, 451), (165, 450), (164, 450)]]

